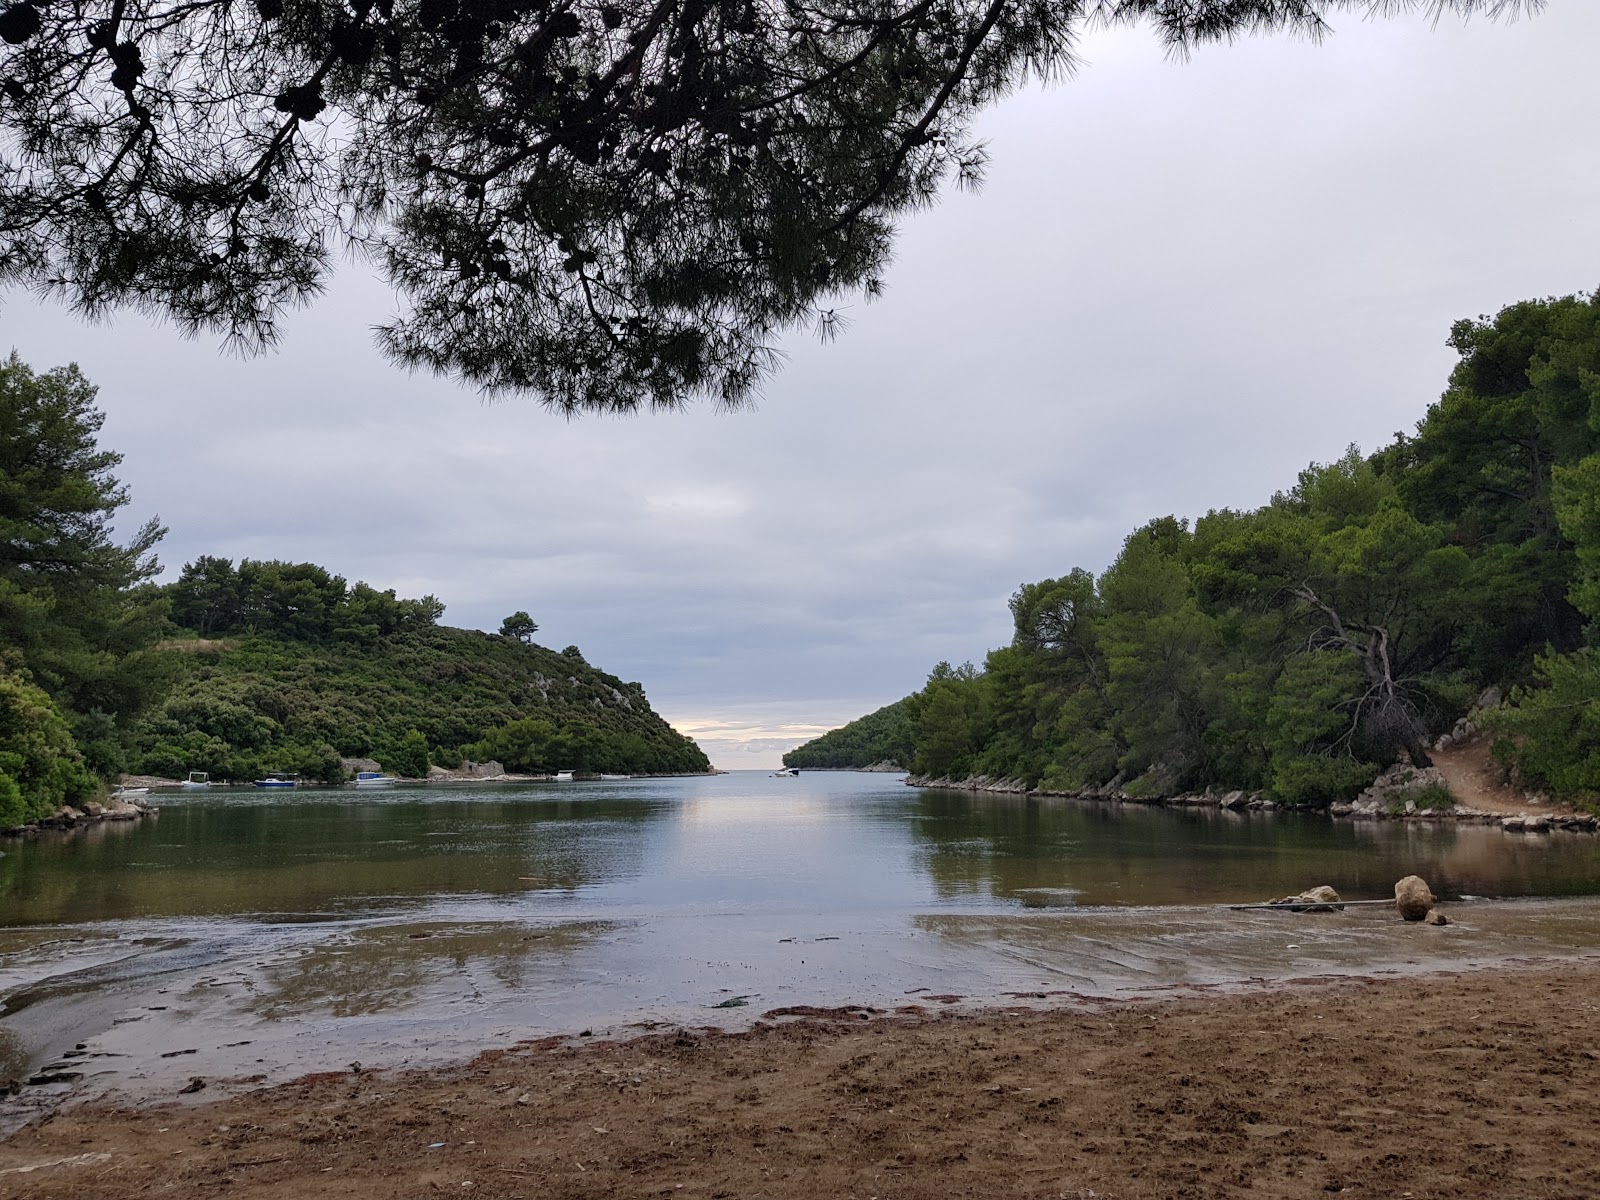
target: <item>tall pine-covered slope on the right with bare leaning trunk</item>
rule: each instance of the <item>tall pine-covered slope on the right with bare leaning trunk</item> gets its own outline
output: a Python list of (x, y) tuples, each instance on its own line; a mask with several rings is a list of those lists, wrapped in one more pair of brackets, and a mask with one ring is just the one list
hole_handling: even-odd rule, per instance
[(1494, 685), (1506, 768), (1600, 800), (1600, 299), (1450, 341), (1414, 434), (1259, 509), (1152, 520), (1098, 578), (1022, 586), (1008, 646), (904, 701), (912, 770), (1326, 803), (1426, 763)]

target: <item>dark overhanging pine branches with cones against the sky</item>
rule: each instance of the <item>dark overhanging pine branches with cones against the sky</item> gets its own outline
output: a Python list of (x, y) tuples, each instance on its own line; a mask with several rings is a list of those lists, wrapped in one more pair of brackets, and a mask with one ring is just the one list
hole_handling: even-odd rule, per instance
[(395, 360), (738, 403), (1094, 24), (1178, 54), (1542, 0), (0, 0), (0, 282), (270, 344), (341, 253)]

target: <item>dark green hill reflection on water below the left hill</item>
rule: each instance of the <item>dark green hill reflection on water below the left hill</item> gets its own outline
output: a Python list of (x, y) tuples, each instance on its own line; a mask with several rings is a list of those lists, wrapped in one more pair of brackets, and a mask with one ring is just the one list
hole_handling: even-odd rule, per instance
[(5, 925), (360, 912), (432, 896), (565, 891), (637, 875), (662, 798), (165, 803), (160, 818), (14, 843)]

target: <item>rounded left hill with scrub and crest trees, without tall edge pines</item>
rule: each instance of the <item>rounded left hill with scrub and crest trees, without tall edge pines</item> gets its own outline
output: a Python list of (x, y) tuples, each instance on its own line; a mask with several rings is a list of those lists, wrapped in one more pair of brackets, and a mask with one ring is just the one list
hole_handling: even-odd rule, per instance
[(314, 563), (203, 557), (166, 589), (187, 637), (181, 666), (134, 728), (131, 765), (226, 779), (299, 771), (333, 781), (339, 757), (421, 774), (429, 760), (512, 770), (704, 771), (706, 755), (576, 646), (531, 645), (531, 621), (482, 634)]

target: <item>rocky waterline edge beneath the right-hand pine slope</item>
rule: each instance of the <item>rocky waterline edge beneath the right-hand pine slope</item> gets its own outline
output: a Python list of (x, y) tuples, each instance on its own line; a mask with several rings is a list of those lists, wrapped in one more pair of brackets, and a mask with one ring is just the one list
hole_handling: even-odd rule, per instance
[[(1507, 811), (1453, 803), (1450, 800), (1450, 787), (1437, 766), (1414, 768), (1405, 763), (1390, 766), (1354, 800), (1338, 802), (1328, 808), (1278, 805), (1262, 792), (1243, 790), (1222, 792), (1208, 789), (1205, 792), (1184, 792), (1179, 795), (1134, 797), (1122, 790), (1120, 781), (1115, 779), (1102, 787), (1085, 787), (1077, 792), (1029, 787), (1021, 779), (995, 779), (984, 774), (965, 779), (910, 774), (906, 776), (906, 784), (907, 787), (934, 787), (952, 792), (1024, 795), (1030, 800), (1098, 800), (1155, 808), (1328, 813), (1333, 818), (1347, 821), (1467, 821), (1475, 824), (1498, 824), (1512, 834), (1547, 834), (1555, 829), (1586, 834), (1600, 832), (1600, 818), (1568, 808), (1550, 806), (1550, 811), (1546, 813), (1528, 813), (1526, 810)], [(1534, 797), (1528, 803), (1542, 805), (1544, 802)]]

